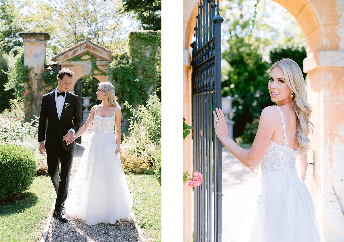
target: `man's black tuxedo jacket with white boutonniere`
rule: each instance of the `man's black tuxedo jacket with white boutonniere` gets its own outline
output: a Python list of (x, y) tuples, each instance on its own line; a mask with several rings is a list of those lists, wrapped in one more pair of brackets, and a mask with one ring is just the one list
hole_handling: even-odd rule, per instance
[[(65, 150), (74, 150), (75, 140), (73, 143), (66, 145), (63, 136), (71, 128), (77, 132), (82, 125), (79, 97), (73, 93), (66, 92), (65, 103), (71, 105), (69, 107), (66, 107), (65, 104), (63, 105), (61, 117), (58, 120), (55, 92), (56, 89), (51, 93), (45, 94), (42, 98), (38, 124), (38, 142), (44, 141), (45, 138), (45, 149), (53, 150), (56, 147), (57, 140), (60, 139)], [(48, 119), (48, 128), (45, 134), (46, 119)]]

